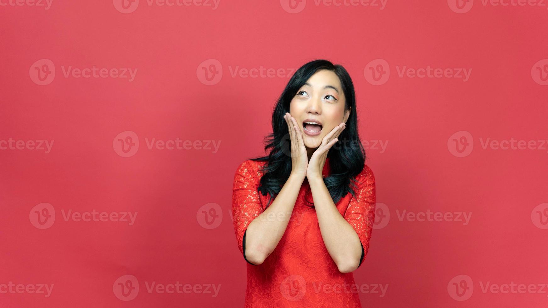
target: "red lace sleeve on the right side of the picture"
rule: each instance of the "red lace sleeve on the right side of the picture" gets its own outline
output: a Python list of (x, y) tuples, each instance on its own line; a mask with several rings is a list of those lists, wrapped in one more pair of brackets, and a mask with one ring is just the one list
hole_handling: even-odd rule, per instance
[(373, 171), (365, 165), (362, 173), (357, 177), (358, 189), (355, 196), (350, 200), (344, 214), (346, 221), (356, 230), (359, 241), (362, 244), (362, 256), (359, 259), (359, 266), (362, 265), (369, 249), (369, 239), (374, 223), (375, 211), (375, 177)]

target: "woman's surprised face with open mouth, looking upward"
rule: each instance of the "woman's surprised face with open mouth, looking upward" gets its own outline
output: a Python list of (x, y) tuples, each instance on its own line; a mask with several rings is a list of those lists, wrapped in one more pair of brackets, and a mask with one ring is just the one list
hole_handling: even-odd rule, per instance
[(319, 147), (335, 126), (346, 123), (350, 110), (345, 112), (345, 103), (339, 77), (327, 69), (317, 71), (295, 93), (289, 113), (297, 121), (307, 149)]

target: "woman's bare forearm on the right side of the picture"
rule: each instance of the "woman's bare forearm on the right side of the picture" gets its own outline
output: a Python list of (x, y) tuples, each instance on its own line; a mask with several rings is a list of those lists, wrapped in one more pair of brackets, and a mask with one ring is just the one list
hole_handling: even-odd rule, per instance
[(362, 246), (358, 234), (337, 210), (322, 178), (309, 179), (319, 229), (327, 251), (340, 272), (358, 268)]

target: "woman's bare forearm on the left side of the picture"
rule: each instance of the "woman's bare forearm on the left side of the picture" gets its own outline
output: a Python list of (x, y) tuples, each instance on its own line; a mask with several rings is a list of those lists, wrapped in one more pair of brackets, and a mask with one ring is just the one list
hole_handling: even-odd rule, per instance
[(246, 233), (246, 259), (261, 264), (286, 232), (304, 176), (290, 175), (276, 199), (252, 220)]

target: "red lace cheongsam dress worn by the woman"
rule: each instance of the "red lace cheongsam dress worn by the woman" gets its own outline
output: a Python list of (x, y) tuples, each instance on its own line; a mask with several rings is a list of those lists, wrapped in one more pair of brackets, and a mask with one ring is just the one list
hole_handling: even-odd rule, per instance
[[(234, 177), (232, 214), (239, 251), (244, 255), (247, 226), (265, 209), (270, 194), (257, 191), (265, 161), (246, 160)], [(322, 174), (329, 175), (329, 158)], [(374, 222), (375, 178), (367, 166), (356, 177), (358, 189), (336, 203), (341, 216), (356, 230), (366, 257)], [(352, 272), (342, 274), (329, 255), (319, 230), (316, 210), (306, 205), (312, 193), (304, 181), (286, 232), (260, 265), (247, 263), (245, 307), (362, 307)]]

